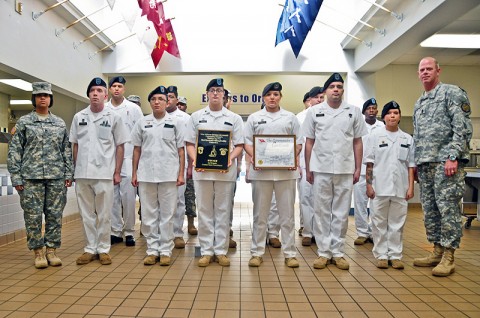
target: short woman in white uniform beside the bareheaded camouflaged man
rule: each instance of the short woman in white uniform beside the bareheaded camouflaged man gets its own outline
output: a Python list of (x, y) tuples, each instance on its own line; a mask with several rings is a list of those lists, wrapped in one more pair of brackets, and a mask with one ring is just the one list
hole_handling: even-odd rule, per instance
[(407, 201), (413, 198), (413, 138), (398, 128), (400, 106), (391, 101), (382, 110), (385, 127), (367, 138), (364, 162), (367, 164), (367, 196), (372, 199), (373, 256), (378, 268), (403, 269), (403, 227)]

